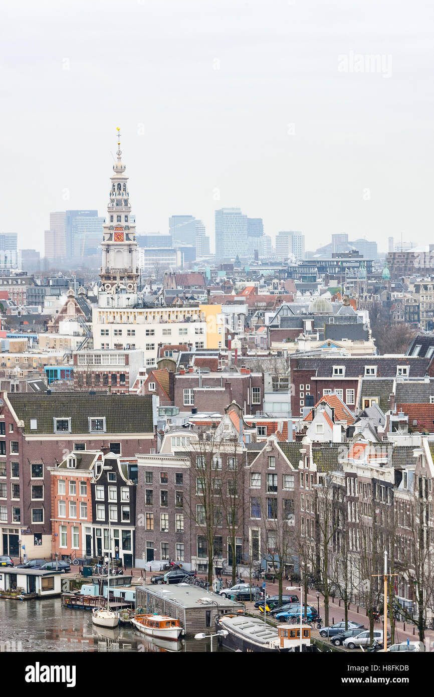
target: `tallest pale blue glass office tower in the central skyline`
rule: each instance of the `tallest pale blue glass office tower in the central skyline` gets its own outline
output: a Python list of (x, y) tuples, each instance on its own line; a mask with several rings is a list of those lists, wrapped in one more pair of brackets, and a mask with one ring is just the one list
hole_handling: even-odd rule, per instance
[(241, 208), (215, 211), (215, 256), (217, 260), (247, 256), (247, 215)]

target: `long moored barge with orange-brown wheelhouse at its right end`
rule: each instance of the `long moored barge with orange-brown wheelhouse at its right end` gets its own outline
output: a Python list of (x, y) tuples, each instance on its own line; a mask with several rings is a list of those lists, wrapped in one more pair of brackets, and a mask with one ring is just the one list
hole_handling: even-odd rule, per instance
[[(296, 652), (300, 651), (300, 627), (271, 627), (263, 620), (250, 617), (216, 618), (217, 631), (226, 629), (226, 636), (219, 636), (219, 643), (231, 651), (245, 652)], [(302, 627), (302, 651), (318, 652), (311, 644), (311, 628)]]

